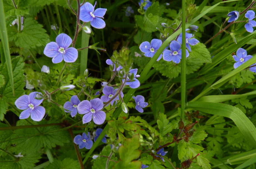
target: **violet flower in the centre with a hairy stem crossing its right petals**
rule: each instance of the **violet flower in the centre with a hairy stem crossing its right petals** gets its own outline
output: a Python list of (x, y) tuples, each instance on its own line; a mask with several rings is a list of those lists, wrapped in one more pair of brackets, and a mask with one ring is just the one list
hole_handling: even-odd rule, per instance
[[(114, 90), (114, 88), (111, 86), (105, 86), (102, 90), (103, 94), (105, 95), (101, 96), (100, 100), (102, 102), (108, 102), (116, 94), (117, 90), (118, 89)], [(122, 91), (120, 92), (120, 95), (122, 98), (124, 97), (124, 94)], [(110, 101), (110, 104), (113, 105), (114, 102), (115, 101), (117, 102), (118, 100), (119, 100), (119, 96), (116, 96), (112, 101)]]

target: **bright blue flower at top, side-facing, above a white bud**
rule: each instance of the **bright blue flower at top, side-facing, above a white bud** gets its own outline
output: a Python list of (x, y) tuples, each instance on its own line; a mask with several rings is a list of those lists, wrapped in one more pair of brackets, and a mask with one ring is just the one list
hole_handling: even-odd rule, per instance
[(83, 4), (83, 6), (80, 7), (80, 17), (79, 19), (83, 22), (91, 22), (92, 27), (95, 27), (97, 29), (102, 29), (106, 26), (105, 22), (103, 21), (103, 16), (105, 15), (107, 9), (105, 8), (98, 8), (94, 11), (96, 2), (94, 6), (90, 4), (89, 2), (86, 2)]

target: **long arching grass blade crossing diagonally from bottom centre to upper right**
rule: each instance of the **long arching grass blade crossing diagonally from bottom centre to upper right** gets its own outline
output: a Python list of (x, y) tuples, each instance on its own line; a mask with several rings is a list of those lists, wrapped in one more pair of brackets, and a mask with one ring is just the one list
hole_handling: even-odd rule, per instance
[[(190, 25), (194, 24), (196, 21), (198, 21), (201, 17), (203, 17), (205, 14), (207, 14), (209, 11), (211, 11), (212, 9), (214, 9), (216, 6), (218, 6), (221, 3), (225, 3), (225, 2), (232, 2), (232, 1), (238, 1), (238, 0), (231, 0), (231, 1), (224, 1), (224, 2), (219, 2), (213, 6), (211, 6), (210, 8), (208, 8), (207, 10), (203, 11), (201, 14), (199, 14), (197, 17), (195, 17), (194, 19), (192, 19), (190, 22), (188, 22), (186, 24), (186, 28), (188, 28)], [(161, 47), (157, 50), (157, 52), (154, 54), (153, 58), (151, 58), (151, 60), (149, 60), (149, 62), (147, 63), (147, 65), (145, 66), (145, 68), (143, 69), (143, 71), (141, 72), (140, 76), (138, 78), (138, 80), (140, 81), (140, 83), (144, 83), (144, 81), (147, 80), (148, 76), (148, 72), (149, 70), (152, 68), (152, 66), (154, 65), (154, 63), (156, 62), (157, 58), (160, 56), (160, 54), (163, 52), (164, 48), (166, 48), (169, 43), (171, 42), (171, 40), (173, 40), (174, 38), (176, 38), (179, 34), (181, 33), (181, 29), (178, 29), (176, 32), (173, 32), (172, 35), (170, 35), (165, 41), (164, 43), (161, 45)], [(124, 98), (124, 102), (128, 103), (128, 101), (131, 99), (131, 97), (133, 96), (133, 94), (135, 93), (137, 89), (130, 89), (126, 94), (125, 94), (125, 98)], [(116, 119), (119, 114), (122, 112), (122, 108), (121, 106), (119, 106), (111, 119)], [(103, 129), (103, 131), (101, 132), (101, 134), (99, 135), (98, 139), (96, 140), (96, 142), (93, 144), (92, 148), (89, 150), (89, 152), (86, 154), (84, 160), (83, 160), (83, 164), (85, 164), (85, 162), (87, 161), (87, 159), (90, 157), (90, 155), (93, 153), (93, 151), (95, 150), (95, 148), (99, 145), (99, 143), (101, 142), (101, 140), (103, 139), (103, 137), (105, 136), (105, 133), (107, 132), (107, 130), (109, 129), (109, 125), (107, 124), (105, 126), (105, 128)]]

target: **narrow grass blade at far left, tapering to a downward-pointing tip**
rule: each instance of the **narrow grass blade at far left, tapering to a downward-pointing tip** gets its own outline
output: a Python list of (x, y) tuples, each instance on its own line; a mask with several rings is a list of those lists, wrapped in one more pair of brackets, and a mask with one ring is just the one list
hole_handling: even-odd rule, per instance
[(12, 68), (8, 35), (7, 35), (6, 24), (5, 24), (3, 0), (0, 0), (0, 33), (1, 33), (1, 43), (3, 43), (3, 48), (4, 48), (4, 57), (6, 60), (7, 70), (8, 70), (8, 74), (11, 82), (11, 88), (14, 96), (13, 68)]

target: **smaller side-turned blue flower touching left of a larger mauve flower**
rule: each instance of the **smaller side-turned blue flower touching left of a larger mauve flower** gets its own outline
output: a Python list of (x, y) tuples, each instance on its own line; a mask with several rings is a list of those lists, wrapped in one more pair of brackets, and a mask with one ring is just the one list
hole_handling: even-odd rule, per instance
[[(78, 99), (77, 95), (72, 96), (70, 101), (67, 101), (63, 108), (65, 112), (70, 112), (71, 117), (74, 117), (77, 114), (77, 105), (80, 103), (80, 100)], [(65, 110), (67, 109), (67, 110)]]

